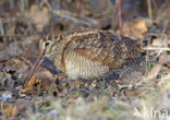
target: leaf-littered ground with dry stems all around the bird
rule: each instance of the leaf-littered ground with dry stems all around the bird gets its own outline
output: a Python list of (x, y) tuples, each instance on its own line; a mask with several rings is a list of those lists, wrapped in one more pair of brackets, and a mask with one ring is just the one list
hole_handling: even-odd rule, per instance
[[(0, 120), (169, 120), (169, 12), (170, 0), (0, 0)], [(143, 71), (68, 81), (46, 59), (23, 86), (40, 38), (88, 28), (148, 40)]]

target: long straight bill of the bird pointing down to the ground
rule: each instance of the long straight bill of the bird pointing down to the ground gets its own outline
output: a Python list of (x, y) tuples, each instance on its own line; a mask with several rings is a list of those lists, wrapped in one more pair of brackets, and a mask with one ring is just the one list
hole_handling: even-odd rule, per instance
[(32, 70), (28, 72), (28, 74), (26, 75), (26, 77), (24, 79), (24, 83), (23, 86), (25, 86), (28, 81), (31, 80), (31, 77), (33, 76), (34, 72), (38, 69), (38, 67), (40, 65), (40, 63), (44, 61), (44, 56), (39, 55), (34, 67), (32, 68)]

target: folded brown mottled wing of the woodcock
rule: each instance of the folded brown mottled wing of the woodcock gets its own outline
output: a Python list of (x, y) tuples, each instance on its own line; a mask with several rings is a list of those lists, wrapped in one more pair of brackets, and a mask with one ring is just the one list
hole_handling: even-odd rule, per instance
[(68, 47), (78, 56), (92, 61), (101, 62), (110, 69), (119, 69), (126, 59), (126, 47), (121, 36), (110, 32), (98, 32), (95, 34), (75, 36)]

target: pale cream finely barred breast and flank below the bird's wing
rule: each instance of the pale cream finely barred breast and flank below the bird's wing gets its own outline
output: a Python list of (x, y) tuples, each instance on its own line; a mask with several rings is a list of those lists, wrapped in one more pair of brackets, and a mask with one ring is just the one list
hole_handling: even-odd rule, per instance
[(99, 77), (109, 71), (109, 67), (102, 65), (101, 62), (94, 62), (74, 52), (65, 56), (64, 63), (66, 74), (73, 80)]

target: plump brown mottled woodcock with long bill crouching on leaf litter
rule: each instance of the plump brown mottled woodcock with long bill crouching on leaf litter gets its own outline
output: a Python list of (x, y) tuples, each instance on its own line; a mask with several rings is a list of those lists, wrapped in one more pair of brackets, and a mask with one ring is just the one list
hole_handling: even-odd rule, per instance
[(107, 77), (125, 65), (144, 63), (145, 46), (146, 40), (101, 29), (48, 35), (40, 39), (40, 56), (25, 81), (32, 77), (45, 58), (71, 80)]

